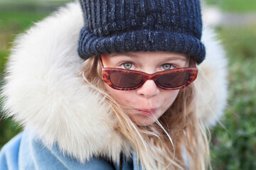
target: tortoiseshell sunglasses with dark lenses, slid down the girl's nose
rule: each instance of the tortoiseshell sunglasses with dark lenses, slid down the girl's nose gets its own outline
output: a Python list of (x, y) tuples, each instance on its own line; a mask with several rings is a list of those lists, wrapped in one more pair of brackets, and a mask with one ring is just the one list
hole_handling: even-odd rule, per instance
[(183, 89), (191, 84), (198, 74), (194, 58), (192, 58), (193, 67), (168, 69), (154, 74), (131, 69), (104, 67), (101, 56), (99, 58), (100, 66), (102, 67), (102, 80), (112, 89), (122, 91), (138, 89), (147, 80), (153, 80), (156, 86), (161, 89)]

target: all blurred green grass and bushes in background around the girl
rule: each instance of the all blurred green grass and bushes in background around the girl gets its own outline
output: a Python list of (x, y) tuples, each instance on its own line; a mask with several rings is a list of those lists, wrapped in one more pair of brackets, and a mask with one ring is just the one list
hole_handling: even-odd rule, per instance
[[(67, 1), (0, 0), (0, 83), (11, 44), (24, 30), (33, 26)], [(255, 0), (206, 0), (223, 13), (256, 13)], [(256, 20), (256, 18), (255, 18)], [(256, 169), (256, 24), (215, 26), (229, 60), (229, 98), (223, 125), (212, 130), (210, 155), (213, 169)], [(0, 103), (1, 104), (1, 103)], [(1, 113), (0, 113), (1, 114)], [(10, 119), (0, 118), (0, 149), (21, 131)]]

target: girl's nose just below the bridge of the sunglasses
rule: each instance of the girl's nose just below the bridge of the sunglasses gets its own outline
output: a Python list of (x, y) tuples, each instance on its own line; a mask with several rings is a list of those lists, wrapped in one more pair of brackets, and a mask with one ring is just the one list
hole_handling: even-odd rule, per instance
[(154, 80), (147, 80), (142, 87), (137, 89), (137, 94), (144, 98), (151, 98), (159, 94), (159, 88), (156, 86)]

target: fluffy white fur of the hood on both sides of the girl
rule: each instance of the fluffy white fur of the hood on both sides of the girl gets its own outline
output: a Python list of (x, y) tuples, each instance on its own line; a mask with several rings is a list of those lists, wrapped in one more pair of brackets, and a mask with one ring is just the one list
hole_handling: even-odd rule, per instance
[[(78, 76), (84, 62), (77, 52), (82, 22), (79, 4), (71, 3), (18, 36), (6, 68), (4, 110), (48, 147), (57, 142), (80, 161), (99, 154), (117, 161), (130, 147), (115, 130), (104, 96)], [(205, 77), (195, 81), (198, 117), (208, 125), (223, 113), (227, 96), (225, 53), (214, 37), (204, 29), (207, 55), (200, 67)], [(215, 94), (208, 93), (205, 78)]]

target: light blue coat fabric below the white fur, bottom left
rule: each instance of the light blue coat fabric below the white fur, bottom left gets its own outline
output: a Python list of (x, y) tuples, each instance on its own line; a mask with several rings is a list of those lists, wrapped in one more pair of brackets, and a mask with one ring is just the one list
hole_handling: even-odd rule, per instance
[[(137, 157), (123, 158), (122, 170), (142, 169), (137, 165)], [(57, 145), (48, 148), (43, 146), (40, 140), (35, 140), (28, 131), (21, 132), (9, 141), (0, 152), (1, 170), (34, 170), (34, 169), (95, 169), (114, 170), (120, 169), (120, 165), (103, 158), (92, 157), (85, 163), (78, 162), (68, 155), (60, 152)]]

